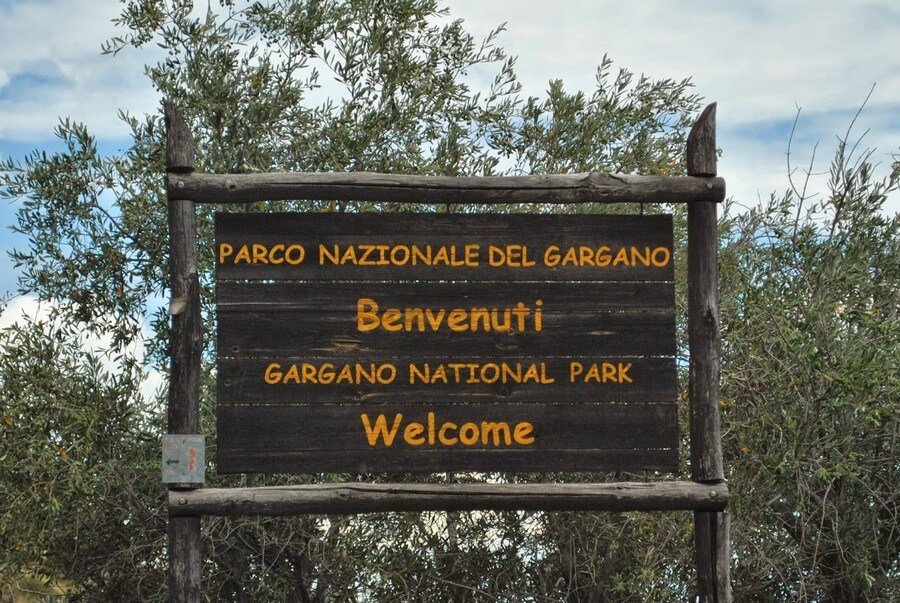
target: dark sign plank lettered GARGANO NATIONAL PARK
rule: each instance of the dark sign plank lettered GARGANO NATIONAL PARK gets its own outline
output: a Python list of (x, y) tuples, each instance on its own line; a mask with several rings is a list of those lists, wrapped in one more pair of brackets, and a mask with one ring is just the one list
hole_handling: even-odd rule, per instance
[[(503, 377), (502, 369), (490, 366), (482, 372), (483, 361), (468, 362), (468, 367), (448, 367), (446, 361), (446, 358), (428, 356), (402, 361), (368, 356), (360, 362), (364, 374), (359, 376), (359, 382), (348, 383), (346, 380), (335, 381), (334, 375), (346, 370), (355, 380), (358, 377), (356, 362), (335, 358), (220, 359), (217, 399), (219, 404), (225, 405), (417, 403), (432, 400), (440, 400), (442, 404), (476, 401), (510, 404), (555, 400), (570, 403), (674, 402), (677, 395), (674, 358), (615, 357), (598, 360), (542, 357), (504, 361), (511, 365), (511, 371), (516, 370), (517, 364), (520, 365), (518, 375), (526, 374), (531, 367), (535, 367), (539, 379), (554, 379), (553, 383), (541, 383), (534, 379), (516, 382), (514, 378)], [(291, 379), (287, 383), (269, 384), (265, 381), (265, 375), (267, 368), (273, 363), (278, 365), (275, 370), (282, 375), (294, 364), (300, 367), (298, 373), (306, 365), (307, 368), (318, 369), (314, 379), (318, 380), (321, 375), (326, 381), (332, 382), (317, 383), (303, 379), (303, 382), (297, 383), (296, 379)], [(595, 363), (596, 370), (593, 369)], [(410, 369), (410, 364), (414, 365), (415, 370)], [(443, 368), (439, 368), (441, 365), (444, 365)], [(604, 365), (607, 375), (615, 375), (605, 382), (597, 378), (598, 375), (602, 377)], [(620, 367), (624, 367), (624, 377), (617, 379)], [(382, 368), (385, 374), (394, 375), (392, 382), (371, 383), (369, 375), (374, 375)], [(616, 373), (612, 372), (613, 368)], [(271, 374), (275, 378), (278, 373)], [(426, 379), (430, 379), (430, 382), (423, 382), (423, 374), (427, 375)], [(447, 382), (440, 375), (444, 375)], [(632, 381), (627, 381), (626, 378)]]

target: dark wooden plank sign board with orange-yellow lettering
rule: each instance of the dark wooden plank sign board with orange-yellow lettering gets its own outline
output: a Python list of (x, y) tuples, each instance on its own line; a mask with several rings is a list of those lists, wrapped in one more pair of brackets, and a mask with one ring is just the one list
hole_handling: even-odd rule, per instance
[(218, 470), (677, 468), (669, 216), (219, 214)]

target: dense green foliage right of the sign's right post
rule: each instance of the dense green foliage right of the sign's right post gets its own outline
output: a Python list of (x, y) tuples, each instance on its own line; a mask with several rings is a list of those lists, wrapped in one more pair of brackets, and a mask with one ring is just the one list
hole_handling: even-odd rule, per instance
[[(849, 133), (848, 133), (849, 136)], [(900, 593), (900, 169), (873, 177), (845, 136), (809, 179), (734, 216), (722, 253), (726, 465), (736, 592)]]

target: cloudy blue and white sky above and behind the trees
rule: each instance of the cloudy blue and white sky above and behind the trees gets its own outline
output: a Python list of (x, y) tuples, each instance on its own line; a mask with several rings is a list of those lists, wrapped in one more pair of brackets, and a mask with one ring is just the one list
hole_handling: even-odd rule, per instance
[[(200, 4), (200, 3), (198, 3)], [(871, 91), (855, 136), (875, 148), (882, 173), (900, 147), (900, 3), (895, 0), (446, 0), (454, 18), (485, 34), (506, 23), (500, 44), (518, 57), (525, 93), (551, 79), (590, 91), (604, 54), (652, 78), (690, 77), (717, 102), (719, 174), (729, 196), (754, 205), (788, 187), (786, 150), (800, 109), (792, 161), (826, 171)], [(205, 5), (205, 4), (204, 4)], [(101, 151), (128, 147), (117, 118), (157, 111), (146, 51), (101, 55), (124, 32), (114, 0), (0, 0), (0, 157), (53, 149), (60, 117), (85, 123)], [(874, 86), (874, 89), (873, 89)], [(822, 176), (818, 177), (821, 181)], [(15, 288), (6, 251), (21, 245), (8, 226), (15, 204), (0, 201), (0, 295)], [(891, 198), (888, 211), (900, 211)]]

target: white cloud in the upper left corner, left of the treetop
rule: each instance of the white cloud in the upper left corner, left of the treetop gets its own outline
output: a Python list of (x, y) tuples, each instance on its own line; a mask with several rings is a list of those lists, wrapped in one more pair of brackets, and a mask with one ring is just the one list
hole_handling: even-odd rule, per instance
[(99, 137), (119, 137), (127, 129), (116, 118), (118, 108), (155, 110), (158, 93), (143, 75), (148, 53), (100, 54), (102, 41), (123, 33), (112, 23), (121, 8), (109, 0), (7, 6), (0, 19), (8, 84), (0, 87), (0, 138), (46, 140), (63, 116), (84, 122)]

